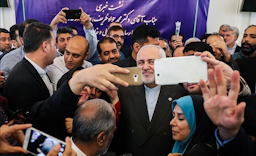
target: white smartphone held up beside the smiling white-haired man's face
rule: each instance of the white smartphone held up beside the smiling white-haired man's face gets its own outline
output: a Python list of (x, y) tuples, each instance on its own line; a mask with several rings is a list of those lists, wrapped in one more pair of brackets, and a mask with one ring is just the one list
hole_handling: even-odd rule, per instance
[(201, 56), (170, 57), (155, 60), (155, 82), (159, 85), (207, 81), (207, 63)]

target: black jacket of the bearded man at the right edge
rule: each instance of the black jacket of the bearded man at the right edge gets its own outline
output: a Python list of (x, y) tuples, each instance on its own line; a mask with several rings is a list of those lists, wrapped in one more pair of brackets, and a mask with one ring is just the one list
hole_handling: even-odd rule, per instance
[(245, 79), (252, 93), (255, 93), (256, 57), (241, 58), (236, 60), (241, 76)]

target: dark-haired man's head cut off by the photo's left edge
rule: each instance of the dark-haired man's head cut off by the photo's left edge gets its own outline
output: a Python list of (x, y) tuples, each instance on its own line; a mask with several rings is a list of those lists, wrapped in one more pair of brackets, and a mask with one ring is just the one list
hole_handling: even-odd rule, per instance
[(0, 28), (0, 55), (11, 49), (11, 37), (8, 30)]

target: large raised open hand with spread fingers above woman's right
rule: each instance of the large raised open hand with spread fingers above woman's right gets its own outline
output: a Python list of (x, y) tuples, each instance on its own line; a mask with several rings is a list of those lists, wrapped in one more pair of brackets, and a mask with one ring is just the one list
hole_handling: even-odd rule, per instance
[(222, 68), (216, 65), (208, 70), (209, 88), (203, 80), (200, 81), (204, 97), (204, 108), (212, 120), (218, 126), (222, 140), (234, 137), (244, 121), (245, 103), (237, 105), (239, 93), (239, 72), (234, 71), (231, 77), (231, 88), (227, 95), (226, 83)]

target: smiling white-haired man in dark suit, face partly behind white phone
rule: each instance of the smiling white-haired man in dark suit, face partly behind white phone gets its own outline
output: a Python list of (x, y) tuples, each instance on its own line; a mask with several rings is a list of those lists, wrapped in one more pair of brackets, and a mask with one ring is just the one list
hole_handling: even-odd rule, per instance
[(137, 55), (137, 66), (142, 69), (144, 84), (118, 90), (121, 103), (116, 138), (118, 154), (166, 156), (172, 150), (171, 103), (187, 92), (178, 85), (155, 83), (154, 61), (165, 57), (159, 46), (142, 47)]

